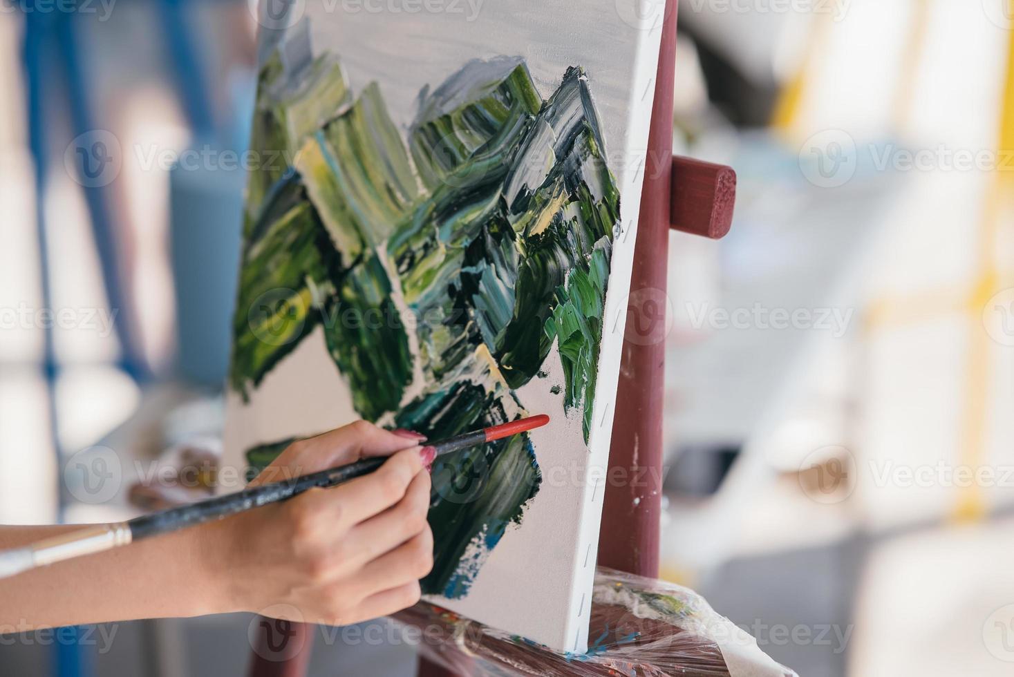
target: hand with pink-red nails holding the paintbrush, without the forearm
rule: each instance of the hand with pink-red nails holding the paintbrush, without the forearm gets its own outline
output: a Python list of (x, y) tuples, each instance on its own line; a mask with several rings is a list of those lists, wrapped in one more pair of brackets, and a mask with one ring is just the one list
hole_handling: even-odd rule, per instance
[(393, 455), (371, 474), (208, 525), (206, 542), (226, 559), (228, 610), (345, 625), (419, 601), (433, 567), (432, 448), (422, 440), (360, 421), (282, 452), (251, 485)]

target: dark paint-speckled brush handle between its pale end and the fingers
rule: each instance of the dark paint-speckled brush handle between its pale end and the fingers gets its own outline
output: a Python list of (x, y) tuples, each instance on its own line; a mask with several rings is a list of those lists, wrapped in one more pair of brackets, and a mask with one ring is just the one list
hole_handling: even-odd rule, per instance
[(315, 486), (335, 486), (355, 477), (373, 472), (383, 465), (386, 457), (366, 458), (338, 468), (329, 468), (285, 481), (245, 488), (235, 494), (220, 496), (208, 501), (172, 508), (152, 515), (144, 515), (130, 520), (133, 540), (155, 536), (167, 531), (175, 531), (211, 520), (220, 520), (251, 508), (285, 501)]

